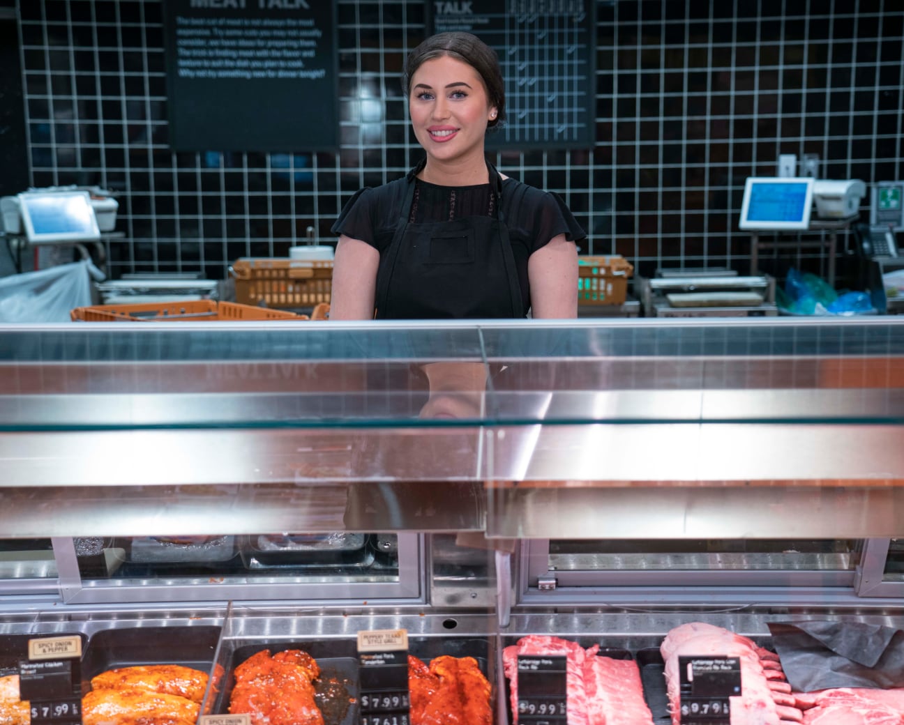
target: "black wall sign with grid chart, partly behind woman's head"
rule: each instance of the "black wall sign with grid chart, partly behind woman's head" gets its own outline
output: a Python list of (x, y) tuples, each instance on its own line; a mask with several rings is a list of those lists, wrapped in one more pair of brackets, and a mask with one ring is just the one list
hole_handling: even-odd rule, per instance
[(430, 0), (434, 33), (466, 31), (499, 55), (508, 120), (490, 148), (589, 148), (596, 134), (594, 0)]

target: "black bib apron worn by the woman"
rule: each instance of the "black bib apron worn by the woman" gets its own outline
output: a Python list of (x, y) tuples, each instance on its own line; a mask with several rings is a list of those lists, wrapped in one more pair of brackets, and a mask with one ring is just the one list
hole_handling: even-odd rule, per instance
[(505, 226), (499, 173), (487, 163), (492, 216), (410, 222), (416, 174), (390, 246), (381, 256), (374, 296), (378, 319), (489, 319), (524, 316), (521, 284)]

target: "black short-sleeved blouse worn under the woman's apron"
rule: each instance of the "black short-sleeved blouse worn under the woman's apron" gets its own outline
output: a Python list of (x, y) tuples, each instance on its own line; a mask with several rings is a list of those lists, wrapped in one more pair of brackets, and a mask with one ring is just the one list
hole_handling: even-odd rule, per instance
[[(362, 240), (381, 255), (384, 254), (399, 223), (407, 183), (403, 177), (376, 188), (365, 187), (355, 193), (345, 204), (331, 231)], [(546, 246), (559, 234), (575, 242), (586, 239), (587, 234), (558, 194), (541, 191), (513, 178), (503, 181), (502, 205), (526, 315), (531, 306), (527, 260), (533, 252)], [(415, 179), (414, 200), (408, 218), (410, 222), (451, 221), (494, 214), (490, 184), (438, 186)]]

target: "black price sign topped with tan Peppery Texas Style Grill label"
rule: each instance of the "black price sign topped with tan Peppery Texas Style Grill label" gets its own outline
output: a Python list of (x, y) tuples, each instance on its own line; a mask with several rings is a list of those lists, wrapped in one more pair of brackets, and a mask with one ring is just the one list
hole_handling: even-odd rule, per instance
[(410, 725), (408, 632), (358, 633), (360, 725)]

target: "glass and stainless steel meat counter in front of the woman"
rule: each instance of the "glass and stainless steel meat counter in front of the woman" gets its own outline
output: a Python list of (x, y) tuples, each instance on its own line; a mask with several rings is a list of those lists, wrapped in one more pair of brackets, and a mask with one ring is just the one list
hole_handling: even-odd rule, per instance
[(682, 626), (766, 651), (789, 621), (900, 626), (902, 332), (6, 327), (0, 635), (77, 632), (102, 669), (191, 630), (215, 674), (404, 628), (427, 662), (475, 656), (498, 722), (506, 647), (549, 635), (636, 663), (667, 721)]

